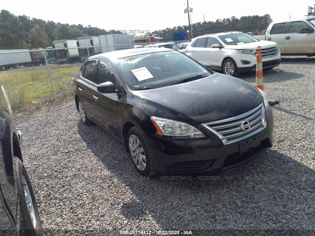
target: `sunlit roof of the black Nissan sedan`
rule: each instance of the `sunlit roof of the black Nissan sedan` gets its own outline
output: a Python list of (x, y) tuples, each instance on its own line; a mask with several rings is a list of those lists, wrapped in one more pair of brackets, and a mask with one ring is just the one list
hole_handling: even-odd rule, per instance
[(136, 55), (148, 54), (148, 53), (156, 53), (156, 52), (167, 52), (167, 51), (175, 51), (169, 48), (132, 48), (125, 50), (112, 51), (107, 53), (97, 54), (95, 56), (90, 57), (90, 59), (120, 59), (126, 58)]

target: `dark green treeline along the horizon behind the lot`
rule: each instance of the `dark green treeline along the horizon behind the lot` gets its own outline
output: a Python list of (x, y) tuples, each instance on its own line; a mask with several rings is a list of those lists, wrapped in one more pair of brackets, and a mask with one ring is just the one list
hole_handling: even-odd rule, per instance
[[(243, 16), (240, 19), (231, 18), (217, 19), (216, 21), (197, 22), (192, 24), (193, 37), (204, 33), (216, 33), (223, 31), (261, 32), (267, 29), (272, 22), (269, 14), (264, 16)], [(153, 35), (162, 37), (164, 41), (173, 41), (173, 33), (187, 32), (188, 26), (158, 29), (151, 32)], [(44, 21), (23, 15), (14, 16), (7, 10), (0, 12), (0, 49), (31, 49), (45, 48), (52, 45), (52, 41), (60, 39), (76, 39), (82, 36), (98, 36), (109, 33), (121, 33), (119, 30), (109, 31), (88, 25), (69, 25)]]

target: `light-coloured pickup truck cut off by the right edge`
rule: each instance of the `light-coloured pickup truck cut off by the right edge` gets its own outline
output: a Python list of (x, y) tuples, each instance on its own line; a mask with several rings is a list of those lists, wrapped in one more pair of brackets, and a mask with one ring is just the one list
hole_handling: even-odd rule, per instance
[(271, 23), (265, 34), (252, 35), (278, 44), (282, 56), (315, 56), (315, 17)]

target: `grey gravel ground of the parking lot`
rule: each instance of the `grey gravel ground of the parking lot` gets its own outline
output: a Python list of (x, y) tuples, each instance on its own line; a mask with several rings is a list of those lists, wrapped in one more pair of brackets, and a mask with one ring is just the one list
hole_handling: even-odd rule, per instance
[[(44, 234), (315, 235), (314, 64), (282, 57), (264, 72), (267, 96), (280, 102), (274, 146), (213, 179), (142, 177), (120, 142), (80, 121), (74, 103), (19, 121)], [(253, 73), (240, 78), (255, 82)]]

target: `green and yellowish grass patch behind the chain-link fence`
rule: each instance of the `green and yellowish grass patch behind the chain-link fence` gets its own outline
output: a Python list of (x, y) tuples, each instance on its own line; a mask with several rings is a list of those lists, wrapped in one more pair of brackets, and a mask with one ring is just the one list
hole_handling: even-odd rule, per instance
[[(71, 78), (79, 68), (80, 65), (49, 67), (55, 93), (72, 90)], [(4, 87), (13, 111), (32, 102), (54, 98), (46, 66), (1, 71), (0, 85)]]

